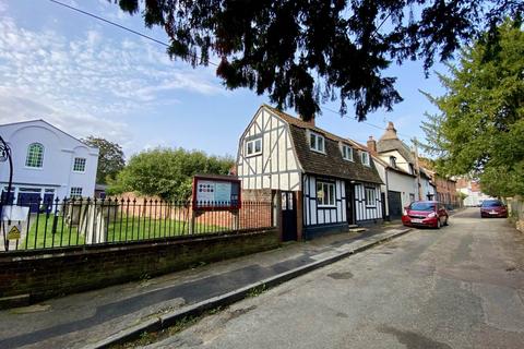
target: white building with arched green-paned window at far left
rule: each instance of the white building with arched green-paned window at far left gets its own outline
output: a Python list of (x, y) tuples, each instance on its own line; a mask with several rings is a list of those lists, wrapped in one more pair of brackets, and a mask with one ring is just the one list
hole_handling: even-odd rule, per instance
[[(93, 196), (98, 148), (57, 129), (44, 120), (0, 125), (13, 158), (13, 191), (19, 204), (48, 202), (59, 197)], [(0, 164), (0, 185), (5, 195), (9, 166)], [(31, 205), (32, 210), (38, 209)]]

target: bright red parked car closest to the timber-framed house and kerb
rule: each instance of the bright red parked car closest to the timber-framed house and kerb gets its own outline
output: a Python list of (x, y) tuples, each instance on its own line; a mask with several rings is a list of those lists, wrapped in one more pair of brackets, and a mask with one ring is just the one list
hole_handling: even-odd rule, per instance
[(406, 227), (432, 227), (440, 229), (448, 226), (449, 214), (438, 201), (416, 201), (404, 209), (402, 224)]

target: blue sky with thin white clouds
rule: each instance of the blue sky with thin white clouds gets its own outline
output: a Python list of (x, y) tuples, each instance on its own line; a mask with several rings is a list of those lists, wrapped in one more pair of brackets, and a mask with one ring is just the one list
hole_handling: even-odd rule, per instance
[[(168, 41), (162, 28), (145, 28), (140, 15), (107, 0), (61, 1)], [(393, 111), (380, 109), (361, 123), (350, 112), (330, 111), (338, 103), (327, 103), (317, 125), (366, 143), (393, 121), (406, 143), (424, 140), (424, 115), (437, 109), (419, 89), (444, 93), (434, 72), (426, 79), (420, 62), (405, 62), (386, 74), (397, 77), (404, 98)], [(0, 123), (44, 119), (76, 137), (117, 142), (127, 158), (157, 146), (236, 156), (239, 136), (264, 103), (266, 96), (249, 89), (226, 89), (213, 65), (170, 60), (159, 44), (51, 1), (0, 0)]]

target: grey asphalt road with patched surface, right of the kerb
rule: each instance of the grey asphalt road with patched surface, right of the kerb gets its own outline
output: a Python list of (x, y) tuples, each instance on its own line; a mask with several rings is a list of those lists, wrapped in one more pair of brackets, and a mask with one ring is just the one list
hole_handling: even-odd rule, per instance
[(524, 348), (524, 234), (469, 208), (147, 348)]

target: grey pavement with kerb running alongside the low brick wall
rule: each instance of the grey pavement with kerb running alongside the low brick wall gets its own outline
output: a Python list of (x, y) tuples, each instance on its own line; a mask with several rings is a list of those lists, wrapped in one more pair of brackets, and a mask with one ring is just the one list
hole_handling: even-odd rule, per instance
[(0, 348), (103, 348), (243, 299), (409, 231), (338, 233), (0, 312)]

